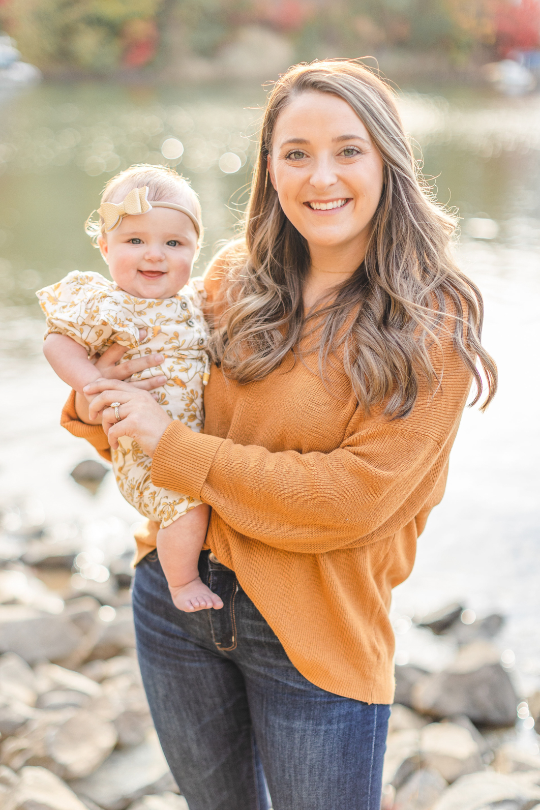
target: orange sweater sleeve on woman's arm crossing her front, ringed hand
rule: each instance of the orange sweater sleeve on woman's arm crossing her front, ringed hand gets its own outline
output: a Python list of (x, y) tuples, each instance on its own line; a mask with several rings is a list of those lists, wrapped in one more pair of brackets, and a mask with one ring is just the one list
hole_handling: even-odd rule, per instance
[(330, 453), (272, 453), (174, 422), (155, 452), (152, 480), (210, 504), (232, 529), (275, 548), (355, 548), (393, 535), (440, 500), (469, 388), (462, 364), (447, 366), (444, 393), (423, 391), (406, 419), (356, 411)]

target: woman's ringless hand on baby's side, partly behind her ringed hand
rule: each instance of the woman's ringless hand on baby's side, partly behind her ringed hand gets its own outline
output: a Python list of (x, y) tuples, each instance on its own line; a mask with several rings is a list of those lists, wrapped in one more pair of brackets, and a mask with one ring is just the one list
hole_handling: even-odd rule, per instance
[[(147, 330), (139, 330), (139, 340), (142, 342), (146, 338)], [(113, 343), (108, 349), (96, 360), (94, 364), (100, 373), (100, 377), (106, 380), (127, 380), (132, 374), (136, 374), (145, 369), (151, 369), (153, 366), (163, 363), (163, 355), (145, 355), (138, 357), (135, 360), (127, 360), (125, 363), (117, 365), (118, 360), (125, 354), (125, 346), (120, 346), (118, 343)], [(159, 386), (163, 386), (167, 382), (167, 377), (148, 377), (146, 380), (135, 380), (130, 382), (129, 385), (144, 391), (151, 391)], [(87, 424), (101, 424), (100, 417), (91, 419), (89, 415), (89, 401), (91, 397), (75, 394), (75, 411), (77, 416), (82, 422)]]

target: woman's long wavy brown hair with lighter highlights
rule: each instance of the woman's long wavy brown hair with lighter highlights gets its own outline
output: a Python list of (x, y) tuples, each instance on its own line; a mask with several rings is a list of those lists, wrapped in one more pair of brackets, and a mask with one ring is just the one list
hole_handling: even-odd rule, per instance
[[(304, 311), (302, 293), (310, 268), (308, 243), (284, 215), (270, 182), (279, 113), (303, 92), (331, 93), (350, 104), (369, 131), (384, 162), (384, 188), (372, 220), (364, 262), (321, 306)], [(497, 369), (480, 339), (483, 300), (453, 260), (457, 218), (433, 198), (419, 173), (403, 131), (391, 88), (351, 60), (298, 65), (270, 93), (244, 239), (227, 251), (224, 307), (210, 340), (223, 373), (240, 383), (261, 380), (300, 342), (317, 335), (319, 373), (342, 356), (361, 407), (385, 403), (389, 416), (407, 416), (415, 404), (419, 375), (432, 390), (440, 385), (432, 361), (441, 330), (474, 377), (477, 403), (487, 381), (487, 407)], [(450, 327), (448, 324), (450, 323)], [(305, 343), (305, 341), (304, 341)], [(313, 350), (313, 348), (312, 348)]]

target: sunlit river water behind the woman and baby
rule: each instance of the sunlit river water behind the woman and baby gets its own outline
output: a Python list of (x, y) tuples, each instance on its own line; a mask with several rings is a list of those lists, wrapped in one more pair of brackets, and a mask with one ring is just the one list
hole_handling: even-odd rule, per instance
[[(8, 522), (19, 505), (58, 538), (83, 524), (88, 543), (130, 547), (138, 514), (112, 476), (96, 497), (70, 479), (93, 451), (58, 425), (67, 389), (40, 354), (34, 291), (70, 270), (106, 272), (83, 222), (108, 177), (137, 161), (164, 162), (169, 137), (183, 143), (177, 168), (201, 195), (202, 269), (234, 232), (264, 101), (260, 87), (82, 84), (43, 85), (3, 105), (0, 505)], [(451, 642), (411, 619), (462, 600), (478, 616), (507, 616), (498, 643), (515, 654), (509, 668), (526, 695), (540, 688), (540, 96), (423, 87), (403, 92), (400, 106), (437, 197), (463, 217), (457, 256), (483, 292), (483, 342), (499, 365), (500, 392), (486, 414), (466, 411), (444, 501), (419, 539), (414, 572), (394, 591), (398, 662), (444, 666)], [(236, 173), (219, 168), (227, 152), (240, 158)]]

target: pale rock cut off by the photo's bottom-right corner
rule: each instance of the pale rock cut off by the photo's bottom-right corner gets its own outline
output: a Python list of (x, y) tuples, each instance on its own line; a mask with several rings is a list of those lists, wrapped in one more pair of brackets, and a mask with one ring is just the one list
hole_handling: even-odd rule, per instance
[(517, 802), (520, 810), (525, 810), (533, 808), (539, 799), (540, 787), (486, 770), (457, 779), (444, 791), (432, 810), (480, 810), (495, 802), (512, 800)]

